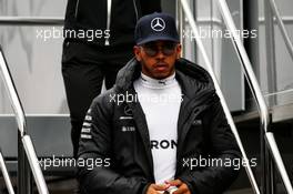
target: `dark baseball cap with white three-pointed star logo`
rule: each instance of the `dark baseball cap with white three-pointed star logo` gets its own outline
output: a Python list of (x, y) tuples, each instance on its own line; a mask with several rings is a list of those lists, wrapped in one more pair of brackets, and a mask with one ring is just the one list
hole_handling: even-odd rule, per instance
[(158, 40), (180, 42), (174, 18), (159, 12), (142, 17), (137, 23), (134, 40), (138, 45)]

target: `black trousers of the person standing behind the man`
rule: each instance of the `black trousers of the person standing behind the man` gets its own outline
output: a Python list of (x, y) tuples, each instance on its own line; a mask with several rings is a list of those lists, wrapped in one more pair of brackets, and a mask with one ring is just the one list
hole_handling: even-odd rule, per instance
[(103, 80), (110, 89), (118, 71), (133, 57), (132, 48), (98, 48), (81, 42), (63, 43), (62, 75), (71, 119), (73, 156), (92, 100), (101, 93)]

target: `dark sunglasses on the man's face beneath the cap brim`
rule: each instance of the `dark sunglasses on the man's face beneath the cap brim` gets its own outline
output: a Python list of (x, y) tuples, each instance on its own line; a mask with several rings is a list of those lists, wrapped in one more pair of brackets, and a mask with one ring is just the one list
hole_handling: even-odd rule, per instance
[(142, 44), (142, 49), (149, 57), (155, 57), (159, 51), (164, 55), (172, 55), (175, 52), (176, 44), (175, 42), (164, 42), (161, 47), (158, 47), (155, 42), (150, 42)]

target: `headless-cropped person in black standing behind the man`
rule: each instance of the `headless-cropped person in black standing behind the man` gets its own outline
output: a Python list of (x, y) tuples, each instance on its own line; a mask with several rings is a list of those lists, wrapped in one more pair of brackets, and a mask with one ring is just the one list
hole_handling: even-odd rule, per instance
[(103, 80), (110, 89), (122, 64), (133, 57), (137, 21), (160, 11), (160, 0), (68, 0), (62, 75), (74, 157), (87, 110)]

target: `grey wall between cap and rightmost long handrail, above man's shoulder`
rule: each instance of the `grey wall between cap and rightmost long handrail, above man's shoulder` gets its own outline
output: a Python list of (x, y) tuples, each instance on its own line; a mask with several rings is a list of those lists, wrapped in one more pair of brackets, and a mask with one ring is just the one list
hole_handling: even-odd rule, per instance
[[(238, 29), (243, 27), (243, 7), (242, 0), (228, 0), (229, 8)], [(225, 32), (226, 28), (221, 18), (220, 10), (215, 1), (195, 0), (190, 1), (191, 8), (196, 16), (199, 30), (202, 31), (202, 41), (208, 52), (209, 59), (213, 65), (218, 81), (228, 101), (231, 111), (244, 110), (244, 80), (241, 72), (241, 64), (233, 49), (231, 39), (226, 37), (212, 37), (212, 31)], [(195, 39), (191, 39), (191, 29), (185, 24), (185, 58), (195, 61), (205, 68), (205, 62), (200, 50), (196, 49)], [(186, 35), (186, 32), (189, 35)]]

